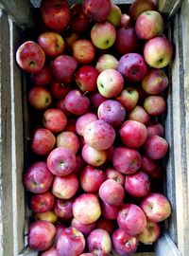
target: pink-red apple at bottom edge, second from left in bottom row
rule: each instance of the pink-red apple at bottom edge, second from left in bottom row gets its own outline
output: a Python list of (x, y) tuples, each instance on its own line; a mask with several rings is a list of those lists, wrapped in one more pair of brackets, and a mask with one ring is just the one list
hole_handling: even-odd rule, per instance
[(85, 248), (83, 234), (75, 228), (64, 229), (57, 241), (58, 256), (78, 256)]

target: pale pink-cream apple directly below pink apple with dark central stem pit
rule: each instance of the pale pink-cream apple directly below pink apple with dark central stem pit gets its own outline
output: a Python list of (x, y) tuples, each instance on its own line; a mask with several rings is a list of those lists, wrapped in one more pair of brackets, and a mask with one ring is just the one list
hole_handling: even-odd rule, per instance
[(52, 192), (60, 199), (72, 198), (78, 189), (76, 174), (67, 174), (63, 177), (56, 176), (53, 182)]

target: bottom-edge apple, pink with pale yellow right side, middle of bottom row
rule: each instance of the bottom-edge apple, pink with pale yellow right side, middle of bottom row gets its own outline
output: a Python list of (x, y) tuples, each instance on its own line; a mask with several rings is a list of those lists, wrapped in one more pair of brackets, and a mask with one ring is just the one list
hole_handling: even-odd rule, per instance
[(104, 229), (94, 229), (87, 238), (89, 251), (94, 255), (109, 256), (112, 249), (110, 234)]

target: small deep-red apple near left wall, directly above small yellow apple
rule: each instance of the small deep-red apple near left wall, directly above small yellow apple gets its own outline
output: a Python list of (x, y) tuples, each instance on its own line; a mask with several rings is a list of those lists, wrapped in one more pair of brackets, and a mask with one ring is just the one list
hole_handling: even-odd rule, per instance
[(34, 193), (30, 198), (30, 208), (35, 212), (51, 210), (55, 202), (52, 192)]

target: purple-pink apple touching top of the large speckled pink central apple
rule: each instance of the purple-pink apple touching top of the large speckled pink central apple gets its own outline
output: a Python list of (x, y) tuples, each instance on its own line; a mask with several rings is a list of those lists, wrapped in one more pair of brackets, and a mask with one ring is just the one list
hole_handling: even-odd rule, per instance
[(126, 110), (119, 101), (108, 100), (101, 103), (97, 110), (98, 119), (117, 127), (126, 118)]

